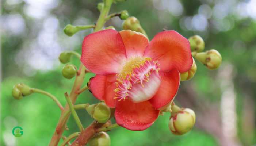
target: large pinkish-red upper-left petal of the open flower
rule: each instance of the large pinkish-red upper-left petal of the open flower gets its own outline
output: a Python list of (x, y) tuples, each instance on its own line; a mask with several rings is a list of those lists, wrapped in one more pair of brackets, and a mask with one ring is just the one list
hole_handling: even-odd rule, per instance
[(84, 37), (81, 62), (93, 73), (117, 73), (125, 60), (125, 46), (118, 31), (107, 29)]

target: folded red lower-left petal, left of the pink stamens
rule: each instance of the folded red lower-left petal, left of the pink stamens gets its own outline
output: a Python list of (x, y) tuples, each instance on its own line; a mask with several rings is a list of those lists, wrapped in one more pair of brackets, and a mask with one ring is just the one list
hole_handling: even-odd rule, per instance
[(89, 82), (89, 88), (92, 91), (92, 94), (99, 100), (104, 100), (105, 103), (114, 108), (116, 104), (115, 92), (114, 89), (116, 88), (115, 85), (116, 75), (96, 75), (93, 77)]

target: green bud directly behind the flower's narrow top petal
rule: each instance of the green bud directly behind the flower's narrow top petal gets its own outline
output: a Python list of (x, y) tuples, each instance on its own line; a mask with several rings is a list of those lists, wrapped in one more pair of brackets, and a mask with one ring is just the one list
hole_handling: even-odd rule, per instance
[(136, 32), (141, 32), (146, 35), (145, 30), (141, 27), (140, 21), (136, 17), (129, 17), (123, 22), (124, 30), (133, 30)]

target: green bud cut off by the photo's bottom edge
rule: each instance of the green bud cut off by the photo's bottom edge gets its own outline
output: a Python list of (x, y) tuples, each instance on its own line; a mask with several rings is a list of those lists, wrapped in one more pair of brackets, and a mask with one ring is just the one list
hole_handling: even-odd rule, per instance
[(106, 132), (99, 132), (88, 144), (89, 146), (110, 146), (110, 137)]

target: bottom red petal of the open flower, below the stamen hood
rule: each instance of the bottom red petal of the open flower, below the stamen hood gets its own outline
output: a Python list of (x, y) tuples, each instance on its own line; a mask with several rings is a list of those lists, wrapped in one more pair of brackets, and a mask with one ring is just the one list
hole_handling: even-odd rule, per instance
[(116, 103), (116, 123), (129, 130), (145, 130), (154, 123), (158, 115), (159, 111), (149, 101), (133, 103), (126, 99)]

